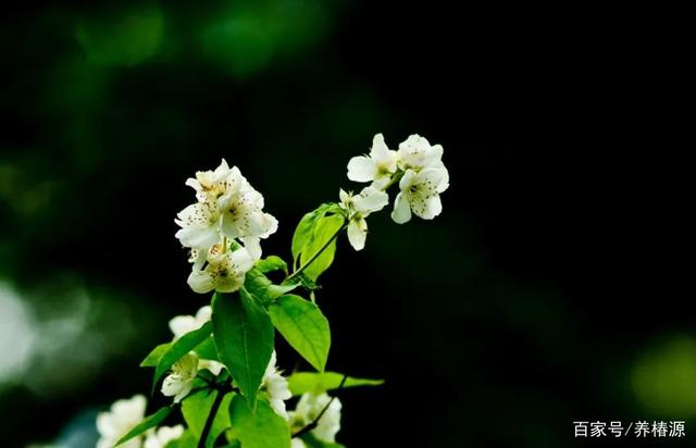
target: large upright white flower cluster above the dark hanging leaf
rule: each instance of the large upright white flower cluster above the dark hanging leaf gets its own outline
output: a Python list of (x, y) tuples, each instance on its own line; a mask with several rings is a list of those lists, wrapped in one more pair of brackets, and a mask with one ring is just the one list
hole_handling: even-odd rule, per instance
[(199, 171), (186, 185), (196, 190), (196, 203), (177, 214), (176, 238), (190, 249), (188, 285), (196, 293), (233, 293), (261, 258), (261, 238), (277, 229), (277, 221), (263, 212), (263, 196), (237, 166), (223, 159), (214, 171)]

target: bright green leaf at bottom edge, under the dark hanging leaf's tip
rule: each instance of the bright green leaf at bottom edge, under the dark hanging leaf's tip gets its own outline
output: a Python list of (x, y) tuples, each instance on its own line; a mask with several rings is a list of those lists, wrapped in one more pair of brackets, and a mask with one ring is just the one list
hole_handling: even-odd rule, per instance
[(290, 448), (287, 422), (265, 400), (259, 400), (256, 413), (251, 413), (241, 397), (234, 397), (229, 406), (229, 419), (234, 434), (244, 448)]

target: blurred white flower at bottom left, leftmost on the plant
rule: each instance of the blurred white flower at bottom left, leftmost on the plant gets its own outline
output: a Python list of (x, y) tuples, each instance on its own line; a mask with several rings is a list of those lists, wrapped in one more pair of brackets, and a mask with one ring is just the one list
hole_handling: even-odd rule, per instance
[[(97, 430), (99, 431), (99, 441), (97, 448), (112, 448), (135, 425), (140, 423), (145, 416), (147, 400), (141, 395), (127, 400), (117, 400), (109, 412), (100, 412), (97, 415)], [(140, 448), (141, 438), (134, 437), (125, 444), (124, 448)]]

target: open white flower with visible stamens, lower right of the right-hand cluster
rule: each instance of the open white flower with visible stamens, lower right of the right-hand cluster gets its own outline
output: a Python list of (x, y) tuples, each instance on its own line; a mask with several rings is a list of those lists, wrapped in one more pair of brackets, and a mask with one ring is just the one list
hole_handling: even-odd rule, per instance
[(427, 167), (420, 173), (408, 170), (401, 181), (401, 191), (394, 201), (391, 219), (403, 224), (411, 219), (411, 211), (423, 220), (432, 220), (443, 211), (439, 194), (449, 186), (447, 171)]

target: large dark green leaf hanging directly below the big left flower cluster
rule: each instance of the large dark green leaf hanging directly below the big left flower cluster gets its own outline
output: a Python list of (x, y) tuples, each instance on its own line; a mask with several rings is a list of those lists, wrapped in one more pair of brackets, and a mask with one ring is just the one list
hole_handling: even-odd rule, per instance
[(215, 294), (212, 322), (220, 360), (253, 408), (273, 352), (271, 318), (241, 289), (238, 296)]

